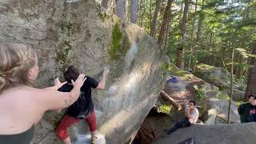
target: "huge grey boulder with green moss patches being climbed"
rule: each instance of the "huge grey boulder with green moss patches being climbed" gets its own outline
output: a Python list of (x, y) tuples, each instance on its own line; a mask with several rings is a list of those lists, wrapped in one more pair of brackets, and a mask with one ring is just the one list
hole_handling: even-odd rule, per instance
[[(108, 67), (106, 90), (93, 90), (98, 131), (106, 143), (133, 139), (166, 80), (166, 59), (154, 38), (94, 0), (4, 0), (0, 11), (0, 42), (22, 42), (38, 52), (38, 87), (50, 86), (67, 65), (97, 80)], [(53, 130), (61, 117), (45, 114), (33, 142), (58, 143)], [(74, 142), (89, 134), (85, 122), (72, 129)]]

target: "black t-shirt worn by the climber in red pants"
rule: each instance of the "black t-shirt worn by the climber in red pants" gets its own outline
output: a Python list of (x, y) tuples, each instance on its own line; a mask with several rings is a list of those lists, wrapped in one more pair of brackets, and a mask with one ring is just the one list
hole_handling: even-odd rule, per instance
[[(76, 102), (74, 102), (66, 111), (71, 117), (75, 118), (86, 118), (94, 110), (94, 102), (91, 98), (91, 87), (96, 88), (98, 86), (98, 82), (94, 80), (94, 78), (90, 78), (86, 76), (86, 81), (81, 87), (81, 93)], [(70, 92), (73, 89), (73, 85), (66, 83), (59, 91), (62, 92)]]

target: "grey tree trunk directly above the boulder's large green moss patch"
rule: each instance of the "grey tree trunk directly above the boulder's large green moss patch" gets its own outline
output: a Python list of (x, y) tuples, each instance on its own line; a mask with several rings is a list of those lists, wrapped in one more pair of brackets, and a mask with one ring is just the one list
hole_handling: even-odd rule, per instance
[(115, 2), (115, 14), (117, 14), (119, 18), (126, 20), (126, 0), (116, 0)]

